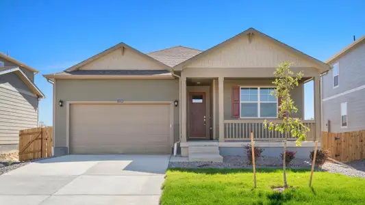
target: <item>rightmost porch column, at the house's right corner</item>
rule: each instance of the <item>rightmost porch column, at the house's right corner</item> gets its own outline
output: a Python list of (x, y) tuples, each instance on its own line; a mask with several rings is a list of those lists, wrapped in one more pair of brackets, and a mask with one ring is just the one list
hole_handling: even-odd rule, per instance
[(316, 122), (316, 137), (314, 140), (321, 140), (320, 137), (320, 76), (319, 74), (314, 77), (314, 121)]

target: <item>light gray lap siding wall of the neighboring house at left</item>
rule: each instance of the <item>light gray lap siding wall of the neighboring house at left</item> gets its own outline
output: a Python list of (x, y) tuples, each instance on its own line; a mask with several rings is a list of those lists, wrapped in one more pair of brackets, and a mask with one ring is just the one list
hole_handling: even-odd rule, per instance
[(38, 98), (16, 74), (0, 76), (0, 145), (18, 143), (18, 133), (38, 124)]

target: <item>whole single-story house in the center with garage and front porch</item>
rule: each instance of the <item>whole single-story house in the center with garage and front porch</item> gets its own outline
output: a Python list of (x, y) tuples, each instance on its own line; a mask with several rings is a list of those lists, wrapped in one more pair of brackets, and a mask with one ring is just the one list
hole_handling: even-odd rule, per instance
[(269, 93), (282, 61), (304, 73), (292, 92), (301, 119), (303, 83), (314, 80), (314, 120), (304, 120), (308, 141), (301, 148), (289, 143), (308, 157), (320, 139), (320, 73), (329, 66), (252, 28), (207, 51), (176, 46), (141, 53), (121, 43), (46, 74), (54, 89), (54, 154), (175, 151), (190, 161), (222, 161), (244, 154), (253, 131), (264, 154), (276, 156), (283, 136), (262, 122), (278, 120)]

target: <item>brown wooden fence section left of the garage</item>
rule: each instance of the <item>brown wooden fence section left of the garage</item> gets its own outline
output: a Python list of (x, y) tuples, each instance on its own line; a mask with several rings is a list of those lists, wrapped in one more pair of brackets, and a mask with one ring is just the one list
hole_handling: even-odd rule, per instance
[(52, 155), (52, 127), (38, 127), (19, 131), (19, 161)]

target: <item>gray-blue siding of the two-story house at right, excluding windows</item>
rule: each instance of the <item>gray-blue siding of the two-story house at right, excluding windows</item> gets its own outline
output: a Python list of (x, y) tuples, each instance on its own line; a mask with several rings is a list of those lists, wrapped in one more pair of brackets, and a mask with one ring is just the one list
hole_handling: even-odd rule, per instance
[[(323, 131), (328, 131), (327, 120), (330, 120), (331, 132), (342, 133), (346, 131), (365, 130), (365, 89), (357, 90), (327, 100), (326, 98), (342, 94), (355, 87), (365, 85), (365, 44), (357, 46), (349, 53), (333, 61), (331, 66), (339, 64), (339, 87), (333, 89), (333, 70), (322, 77), (323, 87)], [(348, 126), (341, 128), (340, 104), (347, 102)]]

